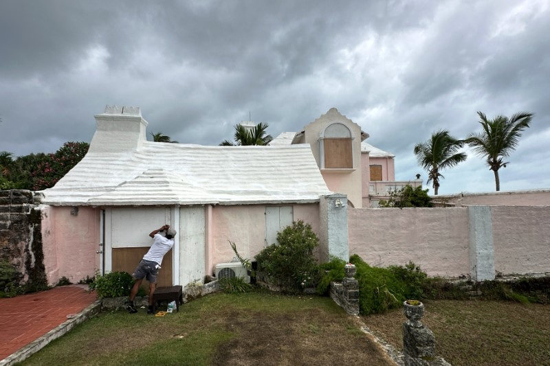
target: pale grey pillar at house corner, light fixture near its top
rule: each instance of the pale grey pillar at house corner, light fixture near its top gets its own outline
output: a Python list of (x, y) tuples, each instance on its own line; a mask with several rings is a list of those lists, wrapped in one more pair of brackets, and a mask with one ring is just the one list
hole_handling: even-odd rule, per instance
[(345, 194), (330, 194), (320, 199), (320, 260), (331, 257), (349, 260), (348, 212)]

